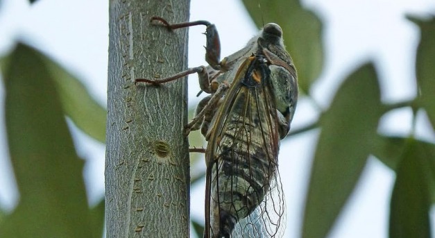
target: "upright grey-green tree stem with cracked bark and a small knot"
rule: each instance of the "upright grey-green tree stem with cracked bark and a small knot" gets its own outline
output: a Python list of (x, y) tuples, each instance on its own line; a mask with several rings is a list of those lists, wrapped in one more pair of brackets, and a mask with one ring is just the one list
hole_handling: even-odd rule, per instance
[(135, 85), (135, 78), (187, 68), (189, 0), (110, 1), (105, 208), (107, 237), (189, 237), (187, 83)]

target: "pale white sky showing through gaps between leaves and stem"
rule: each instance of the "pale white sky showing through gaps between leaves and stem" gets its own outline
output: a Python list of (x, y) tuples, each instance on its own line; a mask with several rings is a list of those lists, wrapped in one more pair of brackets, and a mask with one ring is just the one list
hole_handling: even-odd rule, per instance
[[(108, 1), (40, 0), (31, 7), (25, 0), (3, 0), (1, 3), (1, 54), (10, 50), (15, 40), (23, 39), (73, 71), (105, 105)], [(324, 23), (325, 65), (311, 92), (316, 103), (327, 108), (338, 83), (361, 62), (370, 59), (375, 61), (381, 77), (383, 101), (397, 102), (416, 96), (413, 64), (419, 32), (404, 18), (404, 13), (434, 15), (435, 1), (305, 0), (303, 5), (318, 13)], [(257, 33), (244, 7), (236, 0), (192, 0), (191, 19), (205, 19), (216, 24), (221, 36), (222, 56), (237, 51)], [(189, 32), (190, 67), (205, 64), (203, 31), (204, 28), (196, 27)], [(196, 78), (191, 78), (191, 105), (198, 101), (197, 92)], [(3, 85), (0, 95), (3, 105)], [(8, 162), (3, 111), (0, 114), (0, 205), (12, 210), (18, 194)], [(315, 118), (309, 102), (300, 100), (292, 128), (308, 124)], [(434, 141), (434, 132), (427, 130), (424, 112), (419, 113), (418, 120), (423, 126), (418, 127), (417, 135)], [(379, 126), (380, 132), (393, 135), (408, 135), (410, 130), (411, 110), (407, 109), (390, 112)], [(84, 176), (89, 203), (94, 204), (103, 197), (104, 146), (76, 130), (73, 133), (79, 155), (87, 160)], [(309, 164), (317, 137), (318, 131), (312, 131), (293, 137), (281, 146), (280, 171), (288, 207), (285, 237), (298, 237), (300, 233)], [(368, 161), (357, 192), (352, 195), (329, 237), (387, 237), (394, 173), (374, 158)], [(203, 188), (203, 184), (192, 188), (191, 204), (194, 206), (191, 213), (200, 220), (203, 220)]]

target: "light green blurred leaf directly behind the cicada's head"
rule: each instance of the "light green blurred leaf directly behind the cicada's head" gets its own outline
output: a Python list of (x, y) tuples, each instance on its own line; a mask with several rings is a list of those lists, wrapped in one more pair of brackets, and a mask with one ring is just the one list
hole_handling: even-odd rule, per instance
[[(281, 26), (284, 44), (298, 70), (299, 87), (303, 92), (308, 92), (323, 66), (320, 19), (312, 11), (302, 8), (297, 0), (243, 2), (259, 28), (268, 22)], [(259, 3), (262, 3), (261, 8)]]

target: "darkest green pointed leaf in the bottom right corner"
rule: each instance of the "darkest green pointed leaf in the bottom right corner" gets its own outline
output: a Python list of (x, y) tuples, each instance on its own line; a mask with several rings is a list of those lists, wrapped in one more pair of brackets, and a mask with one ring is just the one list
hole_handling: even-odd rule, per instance
[(389, 237), (431, 237), (427, 155), (414, 141), (409, 142), (396, 172), (391, 195)]

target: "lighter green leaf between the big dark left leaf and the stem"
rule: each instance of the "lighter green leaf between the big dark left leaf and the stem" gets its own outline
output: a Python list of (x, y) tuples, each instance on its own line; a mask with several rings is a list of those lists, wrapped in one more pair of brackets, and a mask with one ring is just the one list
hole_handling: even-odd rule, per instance
[(107, 112), (90, 96), (83, 83), (56, 62), (42, 56), (60, 96), (62, 108), (80, 130), (105, 143)]

